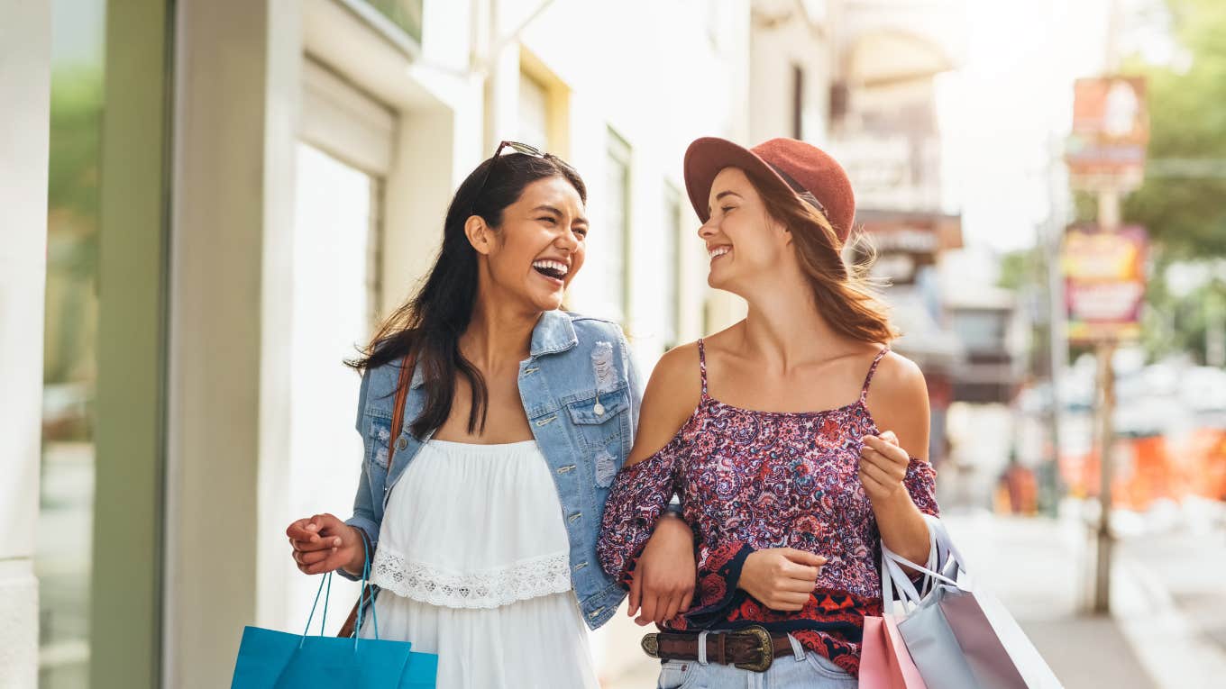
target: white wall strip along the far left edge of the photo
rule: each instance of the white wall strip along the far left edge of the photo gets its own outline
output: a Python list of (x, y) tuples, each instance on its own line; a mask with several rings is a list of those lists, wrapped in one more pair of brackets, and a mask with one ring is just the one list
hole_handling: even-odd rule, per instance
[(51, 16), (44, 2), (0, 4), (0, 687), (38, 680), (33, 573), (43, 412), (43, 292)]

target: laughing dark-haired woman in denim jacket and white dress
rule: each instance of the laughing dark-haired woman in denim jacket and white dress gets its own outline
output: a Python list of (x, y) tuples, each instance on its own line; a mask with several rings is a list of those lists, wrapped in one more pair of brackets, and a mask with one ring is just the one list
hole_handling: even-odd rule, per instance
[[(287, 530), (306, 574), (356, 579), (373, 553), (380, 638), (438, 653), (441, 688), (595, 688), (586, 628), (625, 595), (596, 532), (639, 379), (615, 324), (558, 310), (584, 265), (586, 196), (570, 166), (520, 143), (468, 175), (425, 282), (352, 363), (353, 516)], [(645, 586), (683, 598), (691, 533), (673, 517), (653, 543), (663, 564)]]

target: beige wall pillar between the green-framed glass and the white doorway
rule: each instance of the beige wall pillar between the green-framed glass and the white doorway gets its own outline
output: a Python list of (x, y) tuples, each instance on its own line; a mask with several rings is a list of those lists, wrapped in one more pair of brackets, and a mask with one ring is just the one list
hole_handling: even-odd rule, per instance
[[(294, 0), (178, 4), (164, 683), (229, 682), (278, 614), (271, 538), (289, 446)], [(282, 528), (284, 528), (282, 526)]]

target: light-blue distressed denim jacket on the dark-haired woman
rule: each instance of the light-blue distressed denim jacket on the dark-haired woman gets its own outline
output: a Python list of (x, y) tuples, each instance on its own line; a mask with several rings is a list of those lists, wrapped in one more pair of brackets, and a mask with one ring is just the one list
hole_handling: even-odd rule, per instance
[[(423, 374), (414, 370), (403, 428), (392, 430), (401, 362), (367, 370), (358, 396), (358, 433), (365, 445), (362, 481), (346, 522), (374, 546), (384, 508), (422, 444), (409, 425), (425, 405)], [(601, 570), (596, 537), (613, 477), (630, 454), (642, 390), (625, 336), (617, 324), (565, 311), (546, 311), (520, 362), (520, 398), (532, 435), (553, 474), (570, 538), (570, 579), (592, 629), (614, 613), (625, 591)], [(395, 443), (389, 472), (390, 444)], [(345, 570), (342, 575), (354, 579)]]

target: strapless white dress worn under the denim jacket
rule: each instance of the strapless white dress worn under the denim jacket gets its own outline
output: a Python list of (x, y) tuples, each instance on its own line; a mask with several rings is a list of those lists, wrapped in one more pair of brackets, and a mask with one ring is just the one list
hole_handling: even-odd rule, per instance
[(439, 689), (596, 689), (569, 550), (535, 441), (430, 440), (384, 512), (370, 576), (384, 590), (379, 636), (438, 653)]

